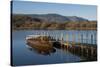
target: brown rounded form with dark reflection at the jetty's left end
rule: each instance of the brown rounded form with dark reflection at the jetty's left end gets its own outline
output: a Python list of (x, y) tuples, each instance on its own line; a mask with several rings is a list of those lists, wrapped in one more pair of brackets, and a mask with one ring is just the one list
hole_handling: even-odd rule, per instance
[(51, 53), (55, 53), (56, 50), (53, 47), (53, 43), (50, 42), (50, 39), (48, 37), (37, 37), (37, 38), (31, 38), (27, 39), (27, 45), (30, 46), (29, 50), (35, 51), (38, 54), (42, 55), (50, 55)]

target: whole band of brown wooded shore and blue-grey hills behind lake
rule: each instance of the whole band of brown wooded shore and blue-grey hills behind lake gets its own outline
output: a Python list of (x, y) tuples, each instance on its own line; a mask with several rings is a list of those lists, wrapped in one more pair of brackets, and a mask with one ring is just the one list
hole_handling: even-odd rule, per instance
[(12, 14), (13, 29), (96, 30), (97, 21), (59, 14)]

